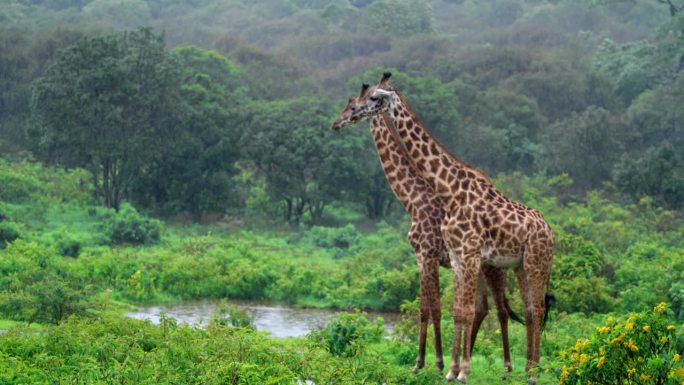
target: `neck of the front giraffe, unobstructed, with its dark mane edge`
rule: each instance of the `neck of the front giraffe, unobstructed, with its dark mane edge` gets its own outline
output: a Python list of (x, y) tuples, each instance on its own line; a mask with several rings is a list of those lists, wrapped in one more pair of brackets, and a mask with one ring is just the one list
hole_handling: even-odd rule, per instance
[(451, 204), (458, 196), (459, 184), (464, 179), (478, 179), (491, 185), (480, 170), (450, 154), (425, 128), (406, 100), (395, 91), (388, 115), (399, 139), (403, 142), (409, 161), (432, 190)]

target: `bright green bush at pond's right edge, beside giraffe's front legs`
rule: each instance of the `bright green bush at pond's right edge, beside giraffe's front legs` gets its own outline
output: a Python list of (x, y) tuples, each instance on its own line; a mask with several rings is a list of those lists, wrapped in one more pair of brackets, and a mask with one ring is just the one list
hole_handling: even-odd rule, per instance
[(370, 342), (377, 342), (384, 333), (382, 319), (371, 323), (362, 313), (340, 313), (322, 330), (309, 337), (318, 341), (330, 354), (352, 357), (365, 350)]

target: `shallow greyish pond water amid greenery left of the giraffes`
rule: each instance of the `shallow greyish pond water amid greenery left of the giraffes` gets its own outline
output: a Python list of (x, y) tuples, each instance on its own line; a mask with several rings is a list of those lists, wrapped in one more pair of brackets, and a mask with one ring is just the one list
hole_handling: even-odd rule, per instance
[[(302, 309), (259, 302), (240, 301), (229, 304), (247, 311), (257, 330), (269, 331), (276, 338), (304, 336), (313, 329), (325, 327), (339, 313), (339, 311), (329, 309)], [(215, 301), (142, 306), (136, 311), (126, 313), (126, 316), (159, 323), (159, 314), (163, 312), (167, 317), (175, 318), (179, 323), (201, 326), (206, 325), (211, 320), (211, 316), (216, 312), (218, 306), (219, 302)], [(391, 331), (394, 324), (400, 320), (398, 313), (368, 312), (367, 316), (371, 320), (382, 317), (387, 331)]]

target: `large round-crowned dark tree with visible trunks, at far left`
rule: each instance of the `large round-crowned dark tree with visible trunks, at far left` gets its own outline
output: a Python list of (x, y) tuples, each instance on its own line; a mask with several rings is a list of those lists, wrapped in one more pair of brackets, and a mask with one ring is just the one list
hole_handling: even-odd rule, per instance
[(118, 209), (175, 137), (177, 68), (150, 29), (86, 37), (60, 51), (33, 85), (39, 157), (88, 169), (103, 203)]

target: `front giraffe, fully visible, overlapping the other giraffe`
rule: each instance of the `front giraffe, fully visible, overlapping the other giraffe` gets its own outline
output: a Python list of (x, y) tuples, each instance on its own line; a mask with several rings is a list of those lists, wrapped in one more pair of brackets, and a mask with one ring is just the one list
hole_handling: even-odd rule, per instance
[[(454, 341), (446, 379), (467, 382), (472, 352), (472, 326), (477, 321), (479, 271), (483, 266), (513, 268), (525, 304), (527, 362), (530, 383), (539, 363), (545, 317), (544, 288), (548, 284), (553, 232), (542, 215), (499, 192), (484, 172), (451, 155), (410, 109), (385, 73), (370, 91), (360, 115), (390, 116), (391, 128), (406, 154), (447, 210), (441, 231), (454, 269)], [(463, 339), (461, 339), (463, 337)], [(468, 338), (471, 337), (471, 338)], [(461, 341), (463, 360), (461, 361)]]

